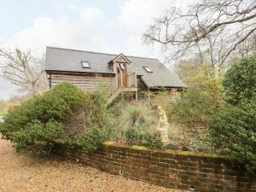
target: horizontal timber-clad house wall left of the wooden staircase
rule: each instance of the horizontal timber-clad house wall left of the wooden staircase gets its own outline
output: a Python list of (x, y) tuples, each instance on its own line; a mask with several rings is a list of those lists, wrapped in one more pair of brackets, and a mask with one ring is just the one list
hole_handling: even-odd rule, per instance
[(81, 90), (96, 90), (102, 82), (108, 82), (109, 89), (112, 88), (114, 77), (96, 74), (51, 73), (50, 79), (51, 87), (57, 83), (70, 82)]

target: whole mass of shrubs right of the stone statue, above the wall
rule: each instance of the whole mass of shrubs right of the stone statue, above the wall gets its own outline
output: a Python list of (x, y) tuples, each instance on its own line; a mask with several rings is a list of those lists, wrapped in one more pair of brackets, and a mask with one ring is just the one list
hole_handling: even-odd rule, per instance
[(255, 170), (255, 57), (233, 64), (223, 81), (208, 72), (189, 71), (189, 88), (171, 102), (170, 148), (229, 154)]

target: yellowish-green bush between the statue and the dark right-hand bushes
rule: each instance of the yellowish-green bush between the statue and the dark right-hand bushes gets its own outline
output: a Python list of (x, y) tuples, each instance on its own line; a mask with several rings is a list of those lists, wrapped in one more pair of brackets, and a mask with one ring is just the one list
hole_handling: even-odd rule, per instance
[(198, 88), (183, 90), (171, 102), (167, 115), (180, 123), (206, 125), (208, 116), (216, 110), (216, 101)]

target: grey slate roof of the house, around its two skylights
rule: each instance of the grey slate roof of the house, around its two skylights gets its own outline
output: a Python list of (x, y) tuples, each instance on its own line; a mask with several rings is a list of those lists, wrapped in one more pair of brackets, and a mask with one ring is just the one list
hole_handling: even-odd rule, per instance
[[(45, 70), (79, 73), (113, 73), (108, 62), (117, 55), (96, 53), (76, 49), (46, 48)], [(126, 55), (125, 55), (126, 56)], [(167, 69), (159, 60), (126, 56), (131, 61), (128, 70), (143, 75), (148, 87), (185, 87), (176, 73)], [(81, 61), (89, 61), (90, 68), (83, 68)], [(147, 73), (143, 67), (149, 67), (153, 73)]]

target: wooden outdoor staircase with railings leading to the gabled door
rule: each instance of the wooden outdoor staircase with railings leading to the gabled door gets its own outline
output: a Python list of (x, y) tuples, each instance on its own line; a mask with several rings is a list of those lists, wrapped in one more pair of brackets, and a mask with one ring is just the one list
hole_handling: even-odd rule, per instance
[(110, 105), (122, 92), (135, 92), (137, 96), (136, 73), (127, 73), (127, 82), (125, 84), (123, 84), (122, 81), (118, 82), (117, 79), (114, 79), (112, 88), (108, 92), (107, 106)]

